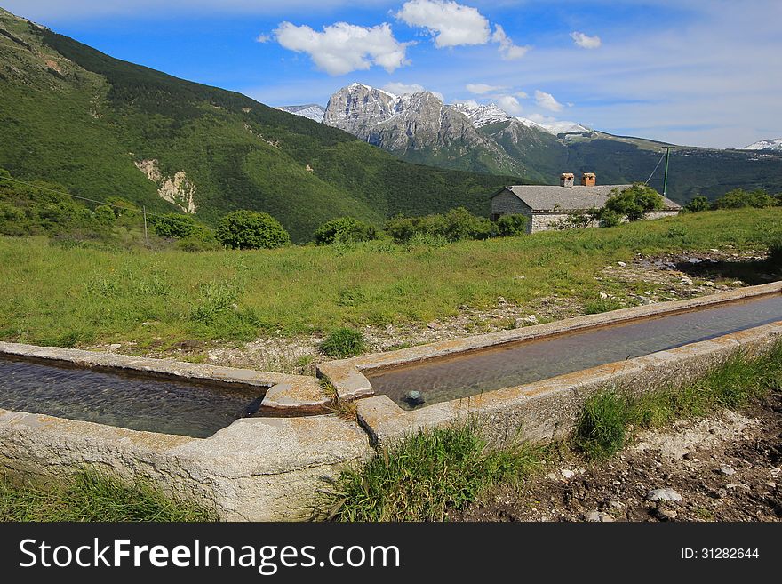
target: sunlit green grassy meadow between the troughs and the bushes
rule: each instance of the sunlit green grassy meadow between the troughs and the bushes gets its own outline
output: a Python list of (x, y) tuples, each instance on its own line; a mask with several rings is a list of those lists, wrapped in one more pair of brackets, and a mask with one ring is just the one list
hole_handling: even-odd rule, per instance
[(445, 245), (194, 253), (4, 236), (0, 339), (66, 347), (133, 340), (143, 348), (426, 323), (456, 315), (463, 304), (491, 308), (499, 296), (524, 304), (553, 294), (585, 302), (599, 292), (633, 292), (634, 284), (595, 276), (636, 253), (728, 245), (765, 251), (780, 236), (778, 207)]

